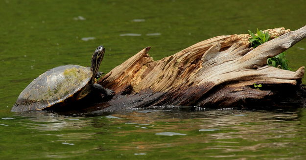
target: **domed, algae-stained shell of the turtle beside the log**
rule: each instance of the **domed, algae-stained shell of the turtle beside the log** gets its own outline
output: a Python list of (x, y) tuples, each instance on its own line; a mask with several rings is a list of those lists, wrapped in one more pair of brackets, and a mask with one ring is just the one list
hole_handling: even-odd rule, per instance
[(12, 111), (42, 110), (61, 103), (82, 90), (92, 77), (90, 68), (78, 65), (49, 69), (20, 93)]

